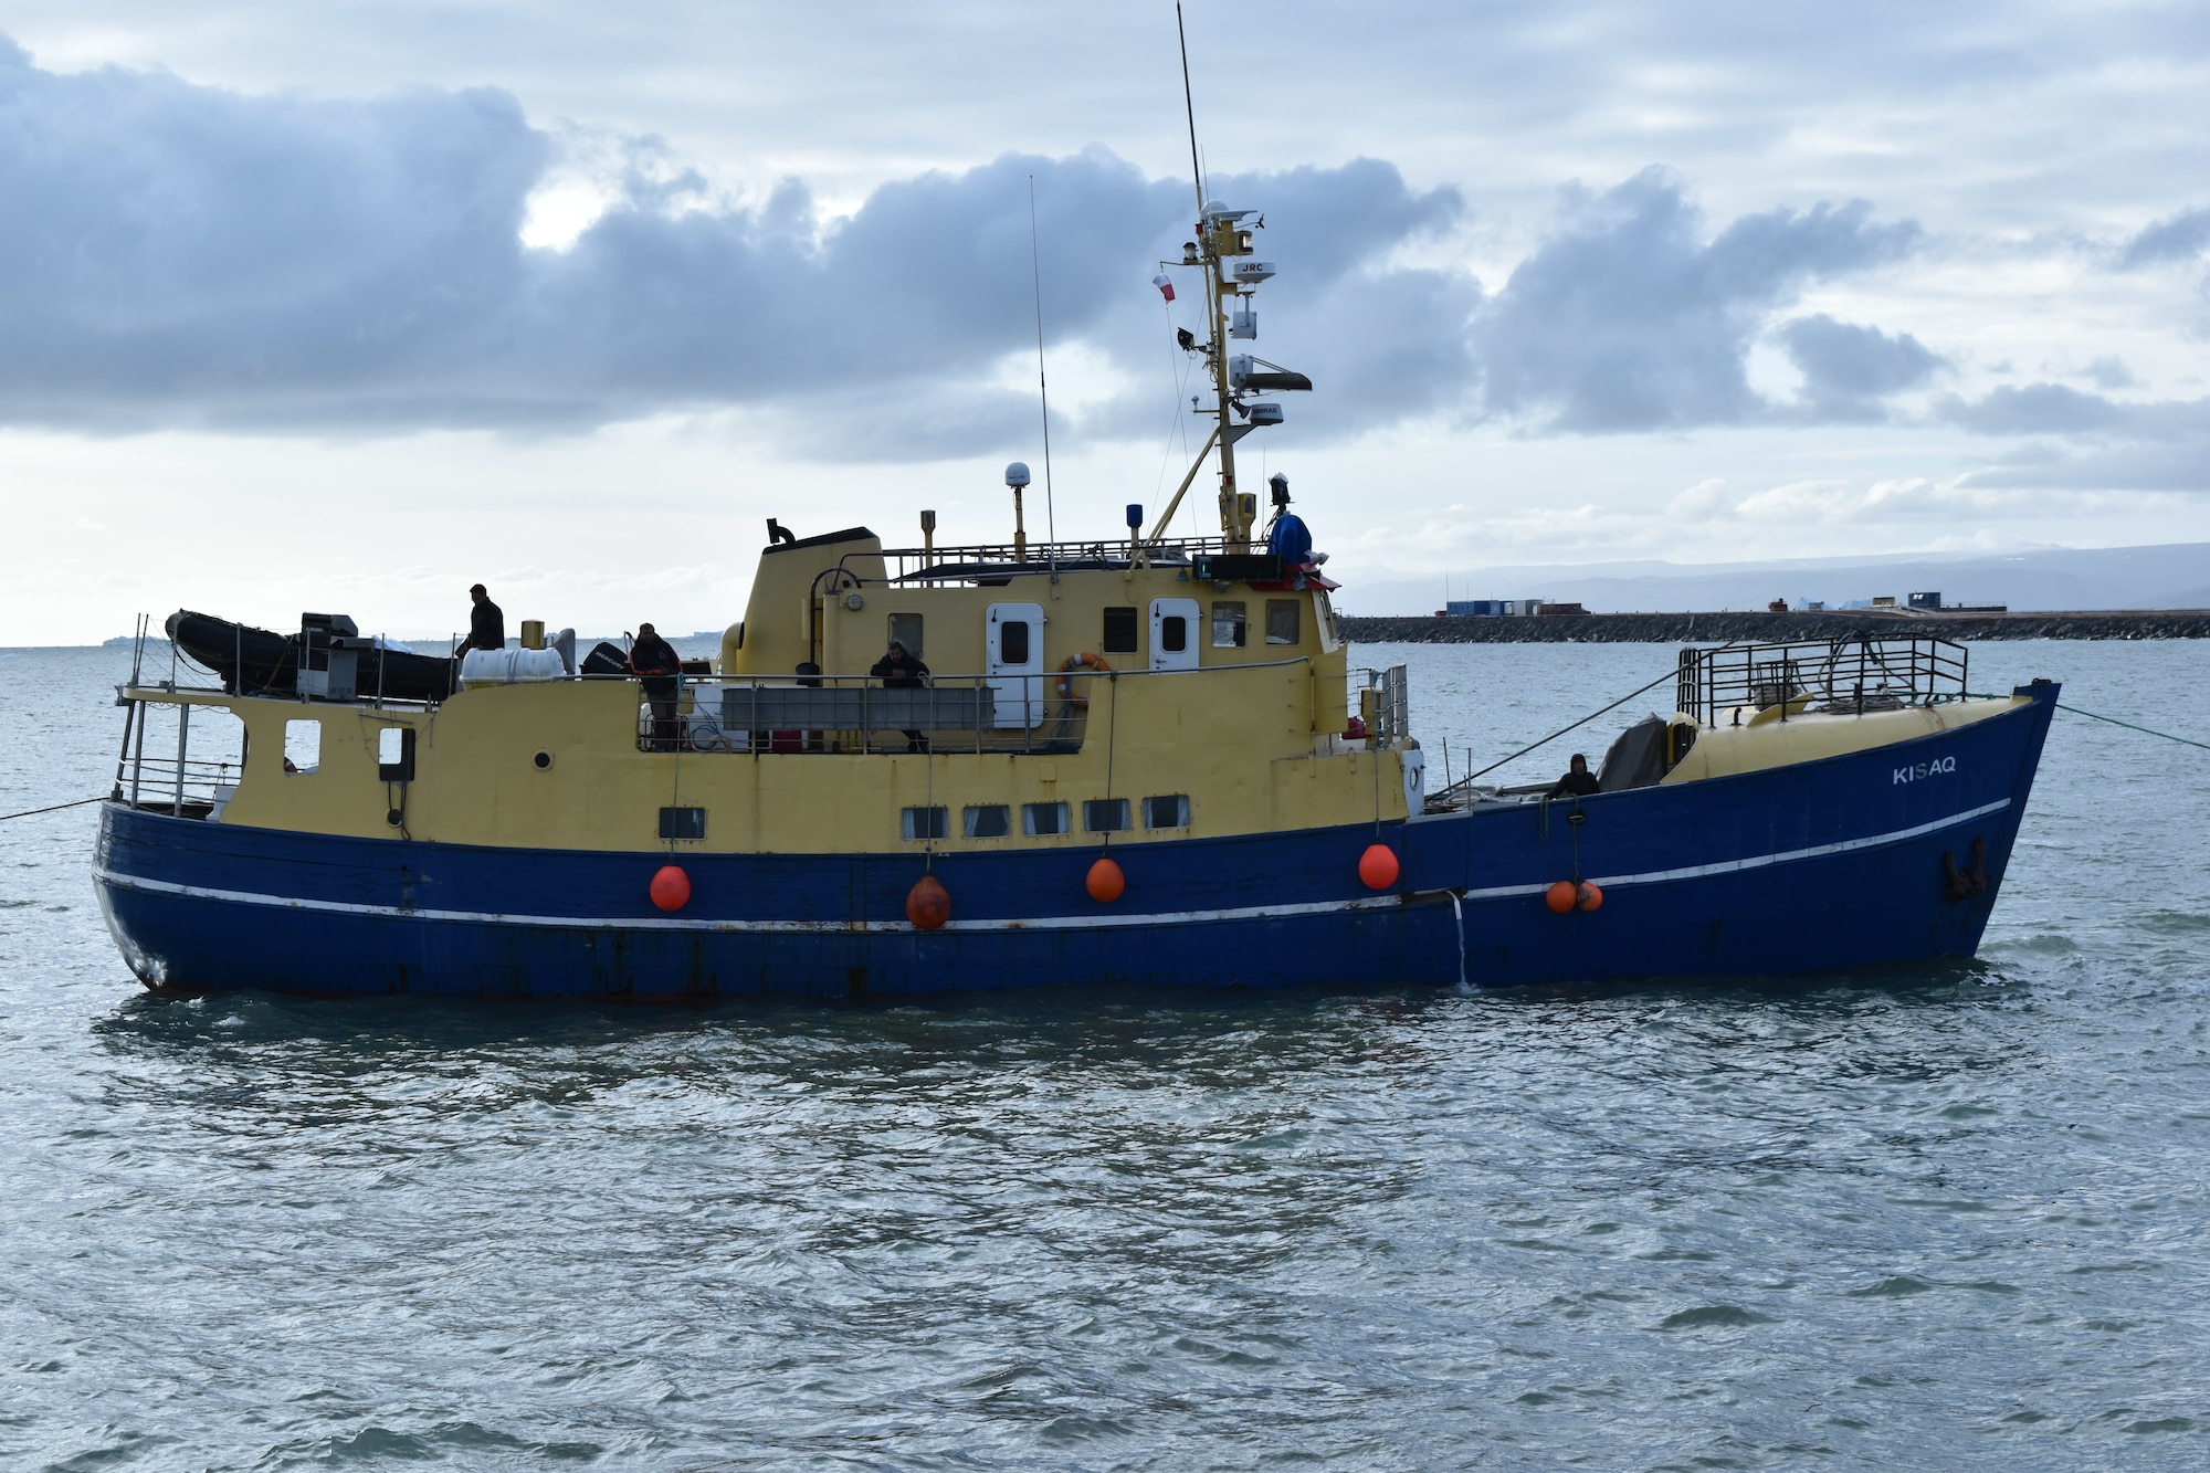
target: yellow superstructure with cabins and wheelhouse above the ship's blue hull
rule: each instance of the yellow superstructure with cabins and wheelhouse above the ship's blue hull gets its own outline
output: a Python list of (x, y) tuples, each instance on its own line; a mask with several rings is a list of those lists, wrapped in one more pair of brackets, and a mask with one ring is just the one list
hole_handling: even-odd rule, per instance
[[(930, 562), (886, 555), (862, 529), (771, 546), (720, 659), (685, 677), (672, 730), (654, 728), (625, 677), (473, 686), (427, 706), (126, 697), (243, 721), (243, 774), (219, 823), (362, 838), (880, 854), (1406, 818), (1417, 743), (1344, 734), (1348, 668), (1326, 595), (1209, 577), (1207, 546), (1220, 544), (1162, 546), (1156, 562), (1127, 544), (1030, 549), (1025, 562), (944, 549)], [(723, 721), (727, 692), (911, 701), (869, 677), (891, 639), (926, 659), (953, 710), (972, 719), (986, 690), (988, 723), (915, 741), (895, 725)], [(287, 770), (287, 725), (301, 721), (318, 723), (318, 756)], [(400, 776), (380, 761), (398, 748), (389, 728), (413, 732)]]

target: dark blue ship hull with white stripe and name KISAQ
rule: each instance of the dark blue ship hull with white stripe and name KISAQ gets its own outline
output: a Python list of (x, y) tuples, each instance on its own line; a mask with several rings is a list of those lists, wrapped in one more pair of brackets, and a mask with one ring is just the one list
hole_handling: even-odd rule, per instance
[[(1788, 975), (1969, 958), (2011, 858), (2055, 686), (1956, 732), (1770, 772), (1390, 825), (939, 854), (941, 931), (906, 924), (915, 854), (683, 854), (692, 900), (645, 896), (656, 854), (488, 849), (250, 829), (108, 803), (95, 880), (148, 986), (705, 1002), (1174, 986)], [(1551, 913), (1576, 874), (1598, 911)], [(1974, 871), (1978, 887), (1956, 871)], [(1947, 860), (1945, 860), (1947, 856)], [(1974, 894), (1962, 894), (1974, 891)]]

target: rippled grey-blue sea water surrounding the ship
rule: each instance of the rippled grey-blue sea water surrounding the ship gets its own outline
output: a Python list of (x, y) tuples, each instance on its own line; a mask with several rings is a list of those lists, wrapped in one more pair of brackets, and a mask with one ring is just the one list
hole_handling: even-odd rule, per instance
[[(1357, 657), (1441, 779), (1673, 652)], [(0, 652), (0, 812), (126, 661)], [(0, 823), (7, 1469), (2210, 1464), (2210, 752), (2058, 714), (1976, 964), (1487, 995), (152, 997), (95, 812)]]

